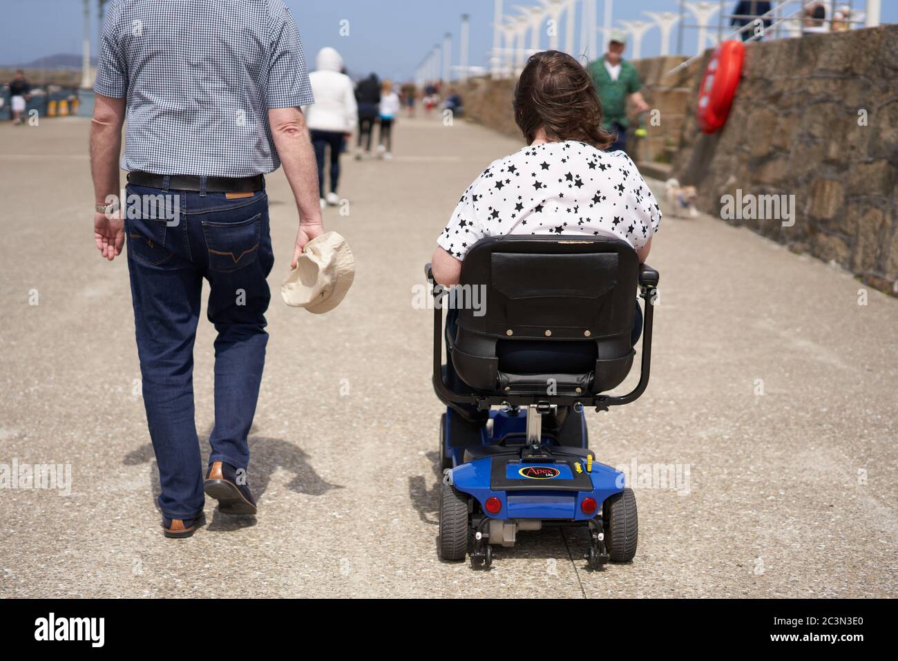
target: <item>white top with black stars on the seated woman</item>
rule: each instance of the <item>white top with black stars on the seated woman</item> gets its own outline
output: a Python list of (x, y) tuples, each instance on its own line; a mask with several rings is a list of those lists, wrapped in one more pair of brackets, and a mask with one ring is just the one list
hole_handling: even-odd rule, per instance
[(629, 156), (582, 142), (524, 147), (492, 163), (464, 191), (436, 240), (453, 257), (503, 234), (617, 234), (641, 248), (661, 208)]

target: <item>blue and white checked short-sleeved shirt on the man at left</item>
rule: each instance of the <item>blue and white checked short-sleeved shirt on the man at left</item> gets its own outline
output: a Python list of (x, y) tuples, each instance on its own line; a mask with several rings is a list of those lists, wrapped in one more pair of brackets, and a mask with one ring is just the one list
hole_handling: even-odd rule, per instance
[(273, 172), (269, 108), (314, 102), (283, 0), (112, 0), (93, 90), (127, 96), (121, 167), (154, 174)]

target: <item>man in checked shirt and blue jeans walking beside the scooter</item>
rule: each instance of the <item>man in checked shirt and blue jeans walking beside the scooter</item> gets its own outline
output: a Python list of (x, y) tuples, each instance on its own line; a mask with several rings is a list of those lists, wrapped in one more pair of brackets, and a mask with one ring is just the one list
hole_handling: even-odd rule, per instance
[[(94, 236), (108, 260), (128, 241), (163, 529), (188, 537), (201, 523), (204, 489), (223, 513), (256, 513), (247, 435), (265, 363), (266, 277), (274, 262), (264, 175), (283, 163), (293, 189), (295, 265), (322, 231), (300, 110), (313, 94), (282, 0), (112, 0), (108, 7), (91, 129)], [(126, 106), (128, 195), (119, 209)], [(207, 318), (217, 331), (205, 480), (192, 376), (204, 278)]]

